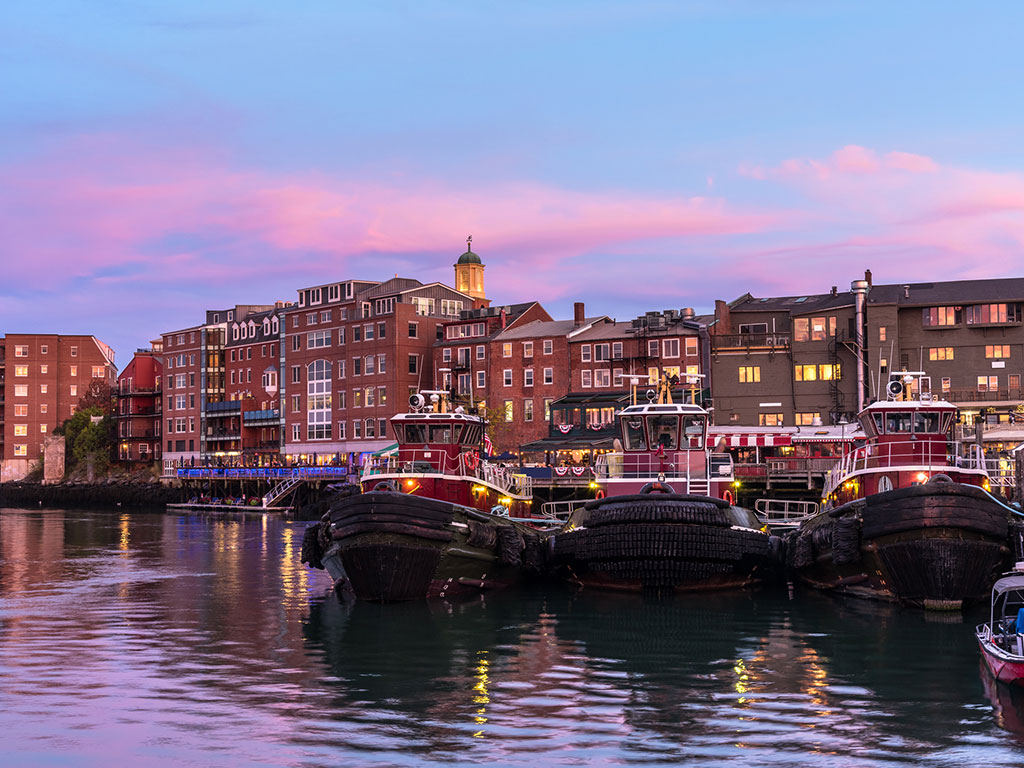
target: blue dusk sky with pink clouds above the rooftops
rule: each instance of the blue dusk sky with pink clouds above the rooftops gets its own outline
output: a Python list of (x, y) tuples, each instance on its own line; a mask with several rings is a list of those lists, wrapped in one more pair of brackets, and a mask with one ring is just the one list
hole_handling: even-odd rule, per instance
[(1018, 2), (0, 6), (0, 333), (395, 273), (629, 319), (1019, 276)]

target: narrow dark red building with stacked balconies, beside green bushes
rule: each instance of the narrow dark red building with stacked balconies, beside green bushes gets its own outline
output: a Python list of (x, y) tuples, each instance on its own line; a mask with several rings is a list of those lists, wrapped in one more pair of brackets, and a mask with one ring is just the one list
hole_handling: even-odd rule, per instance
[(137, 349), (118, 376), (118, 461), (136, 467), (159, 462), (162, 454), (163, 342)]

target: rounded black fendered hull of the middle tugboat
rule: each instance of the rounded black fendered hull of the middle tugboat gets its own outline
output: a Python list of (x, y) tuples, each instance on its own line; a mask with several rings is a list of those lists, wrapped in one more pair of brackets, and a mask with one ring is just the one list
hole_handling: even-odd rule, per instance
[(773, 538), (744, 526), (748, 514), (709, 497), (609, 497), (554, 537), (553, 561), (570, 581), (600, 589), (736, 589), (777, 562)]

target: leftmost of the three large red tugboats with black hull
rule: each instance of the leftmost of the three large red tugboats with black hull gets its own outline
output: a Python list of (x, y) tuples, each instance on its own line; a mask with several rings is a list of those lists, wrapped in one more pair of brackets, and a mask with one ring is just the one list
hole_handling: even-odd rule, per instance
[(339, 489), (306, 531), (303, 562), (360, 600), (477, 593), (541, 567), (530, 478), (481, 461), (483, 420), (450, 411), (445, 392), (425, 394), (430, 408), (416, 394), (391, 419), (396, 456)]

